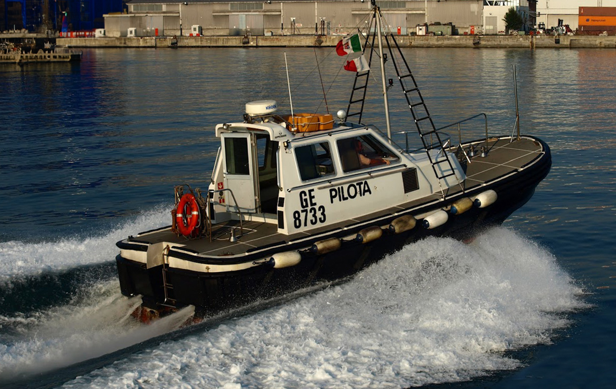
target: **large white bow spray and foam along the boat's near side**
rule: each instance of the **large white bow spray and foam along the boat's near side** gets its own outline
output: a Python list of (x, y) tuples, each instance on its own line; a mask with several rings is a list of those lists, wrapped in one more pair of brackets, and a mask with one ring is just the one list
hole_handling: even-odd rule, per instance
[[(226, 321), (65, 383), (66, 388), (402, 388), (468, 380), (549, 343), (582, 290), (504, 228), (429, 238), (280, 307)], [(11, 353), (12, 351), (9, 351)], [(6, 353), (6, 351), (5, 351)]]

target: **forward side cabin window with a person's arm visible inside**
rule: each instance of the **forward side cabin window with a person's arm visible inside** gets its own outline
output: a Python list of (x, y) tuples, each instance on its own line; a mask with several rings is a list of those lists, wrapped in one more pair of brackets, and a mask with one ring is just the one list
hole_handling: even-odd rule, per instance
[(338, 139), (336, 145), (340, 153), (342, 171), (345, 173), (371, 166), (391, 164), (400, 160), (372, 135)]

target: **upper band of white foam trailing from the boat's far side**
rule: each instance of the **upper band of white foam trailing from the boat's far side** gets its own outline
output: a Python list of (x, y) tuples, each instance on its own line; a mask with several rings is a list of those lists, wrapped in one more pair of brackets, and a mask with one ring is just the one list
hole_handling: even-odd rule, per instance
[(171, 206), (160, 206), (100, 236), (43, 243), (4, 242), (0, 245), (0, 286), (15, 276), (39, 275), (112, 261), (119, 252), (115, 246), (117, 241), (138, 231), (169, 225), (169, 209)]

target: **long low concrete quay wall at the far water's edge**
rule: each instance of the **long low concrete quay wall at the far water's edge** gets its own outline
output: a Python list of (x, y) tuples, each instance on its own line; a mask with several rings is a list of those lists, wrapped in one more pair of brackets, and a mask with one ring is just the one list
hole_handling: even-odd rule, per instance
[[(180, 36), (177, 47), (332, 47), (341, 36)], [(400, 47), (475, 47), (475, 48), (609, 48), (616, 49), (616, 36), (397, 36)], [(171, 46), (171, 37), (134, 38), (57, 38), (67, 47), (149, 47)]]

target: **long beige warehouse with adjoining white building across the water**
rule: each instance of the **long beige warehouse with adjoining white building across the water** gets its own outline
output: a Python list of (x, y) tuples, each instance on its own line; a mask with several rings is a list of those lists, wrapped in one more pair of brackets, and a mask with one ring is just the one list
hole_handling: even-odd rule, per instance
[[(534, 1), (532, 0), (533, 4)], [(130, 0), (128, 13), (105, 15), (106, 36), (347, 34), (368, 23), (370, 1)], [(421, 34), (419, 26), (448, 25), (450, 34), (504, 33), (513, 6), (529, 15), (528, 0), (377, 1), (397, 34)], [(425, 33), (425, 30), (423, 31)]]

